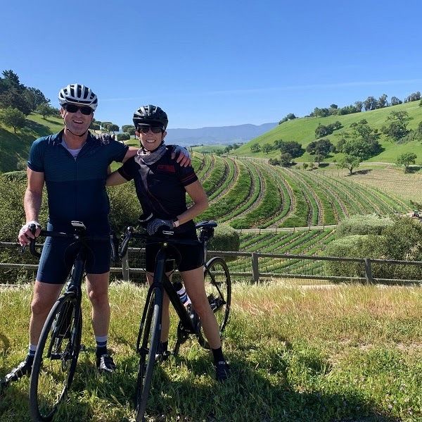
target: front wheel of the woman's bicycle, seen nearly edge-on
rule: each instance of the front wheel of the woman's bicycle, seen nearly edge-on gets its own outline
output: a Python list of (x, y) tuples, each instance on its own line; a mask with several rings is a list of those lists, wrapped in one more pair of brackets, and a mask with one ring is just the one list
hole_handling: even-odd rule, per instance
[(136, 421), (143, 421), (153, 378), (155, 353), (161, 335), (162, 292), (158, 288), (151, 295), (143, 309), (139, 326), (136, 351), (139, 353), (138, 380), (136, 382)]

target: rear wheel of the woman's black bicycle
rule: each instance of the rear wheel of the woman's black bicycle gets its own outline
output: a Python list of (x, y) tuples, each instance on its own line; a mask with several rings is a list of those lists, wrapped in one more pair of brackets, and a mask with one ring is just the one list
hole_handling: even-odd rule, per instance
[[(224, 259), (219, 256), (210, 259), (204, 267), (205, 292), (212, 311), (214, 311), (220, 335), (229, 320), (231, 302), (231, 280), (229, 268)], [(210, 349), (203, 329), (198, 333), (198, 342), (205, 349)]]

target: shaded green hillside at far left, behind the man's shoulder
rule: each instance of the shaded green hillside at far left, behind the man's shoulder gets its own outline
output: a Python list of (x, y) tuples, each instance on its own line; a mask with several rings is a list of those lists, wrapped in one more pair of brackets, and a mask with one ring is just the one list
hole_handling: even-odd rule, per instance
[(49, 117), (44, 120), (39, 114), (33, 113), (27, 116), (25, 127), (16, 134), (13, 128), (0, 127), (0, 173), (26, 168), (32, 142), (62, 128), (61, 118)]

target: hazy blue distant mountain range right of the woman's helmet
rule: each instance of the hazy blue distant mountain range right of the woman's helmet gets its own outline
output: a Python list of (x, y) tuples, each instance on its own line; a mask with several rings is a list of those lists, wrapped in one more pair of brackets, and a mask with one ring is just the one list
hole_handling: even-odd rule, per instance
[(263, 125), (220, 126), (199, 129), (168, 129), (167, 144), (178, 144), (184, 147), (200, 144), (234, 144), (248, 142), (259, 135), (275, 128), (278, 123)]

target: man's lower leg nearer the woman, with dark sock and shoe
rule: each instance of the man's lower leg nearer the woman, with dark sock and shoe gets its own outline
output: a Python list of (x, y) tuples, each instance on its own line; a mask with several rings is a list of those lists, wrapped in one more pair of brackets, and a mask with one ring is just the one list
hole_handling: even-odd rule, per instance
[(87, 274), (87, 294), (92, 304), (92, 328), (96, 339), (96, 363), (101, 371), (113, 372), (115, 364), (108, 354), (108, 328), (110, 326), (110, 303), (108, 280), (110, 273)]

